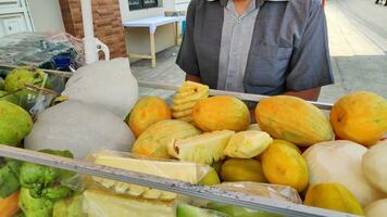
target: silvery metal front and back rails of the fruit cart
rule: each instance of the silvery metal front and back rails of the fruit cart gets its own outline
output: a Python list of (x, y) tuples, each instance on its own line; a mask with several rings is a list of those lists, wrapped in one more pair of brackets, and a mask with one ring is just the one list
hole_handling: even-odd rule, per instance
[[(1, 67), (13, 68), (12, 65), (3, 65)], [(57, 71), (45, 71), (49, 75), (60, 76), (64, 78), (71, 77), (72, 73), (57, 72)], [(139, 87), (154, 88), (162, 90), (176, 91), (177, 87), (138, 81)], [(210, 90), (210, 95), (233, 95), (240, 100), (259, 102), (261, 99), (266, 98), (264, 95), (247, 94), (238, 92), (228, 92), (220, 90)], [(328, 111), (332, 108), (329, 103), (313, 102), (315, 106), (321, 110)], [(229, 205), (242, 206), (251, 209), (259, 209), (262, 212), (269, 212), (273, 214), (279, 214), (282, 216), (329, 216), (329, 217), (350, 217), (347, 213), (339, 213), (323, 208), (316, 208), (311, 206), (305, 206), (302, 204), (295, 204), (289, 202), (283, 202), (277, 200), (272, 200), (263, 196), (252, 196), (244, 193), (221, 190), (217, 188), (190, 184), (183, 181), (177, 181), (167, 178), (161, 178), (158, 176), (140, 174), (135, 171), (129, 171), (125, 169), (120, 169), (115, 167), (102, 166), (98, 164), (92, 164), (90, 162), (70, 159), (61, 156), (53, 156), (50, 154), (45, 154), (40, 152), (34, 152), (29, 150), (12, 148), (8, 145), (0, 144), (0, 156), (14, 158), (23, 162), (30, 162), (39, 165), (46, 165), (54, 168), (66, 169), (75, 171), (77, 174), (85, 174), (96, 177), (108, 178), (116, 181), (138, 184), (142, 187), (154, 188), (158, 190), (163, 190), (167, 192), (174, 192), (177, 194), (183, 194), (200, 200), (208, 200), (213, 202), (220, 202)]]

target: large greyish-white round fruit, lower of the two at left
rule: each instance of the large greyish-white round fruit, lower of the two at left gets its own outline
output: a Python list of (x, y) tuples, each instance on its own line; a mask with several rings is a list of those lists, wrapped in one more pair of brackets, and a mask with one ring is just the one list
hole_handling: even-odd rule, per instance
[(101, 107), (68, 100), (42, 112), (24, 146), (29, 150), (70, 150), (76, 158), (92, 151), (129, 151), (135, 139), (127, 125)]

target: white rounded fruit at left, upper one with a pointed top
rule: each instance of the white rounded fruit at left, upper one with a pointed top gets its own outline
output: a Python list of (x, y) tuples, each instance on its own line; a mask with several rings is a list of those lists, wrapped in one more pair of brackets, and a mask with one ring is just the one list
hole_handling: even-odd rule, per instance
[(127, 59), (114, 59), (76, 71), (62, 94), (102, 106), (124, 119), (138, 100), (138, 85)]

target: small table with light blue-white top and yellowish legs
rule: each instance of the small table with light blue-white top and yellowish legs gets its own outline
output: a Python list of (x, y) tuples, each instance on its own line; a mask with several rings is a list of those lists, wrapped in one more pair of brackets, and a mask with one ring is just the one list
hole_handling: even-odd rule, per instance
[(175, 42), (178, 44), (178, 22), (184, 21), (183, 16), (155, 16), (149, 18), (141, 18), (136, 21), (123, 22), (124, 27), (147, 27), (149, 28), (149, 40), (150, 40), (150, 55), (128, 53), (129, 58), (138, 59), (150, 59), (152, 62), (152, 67), (155, 67), (155, 43), (154, 34), (158, 26), (174, 24), (175, 25)]

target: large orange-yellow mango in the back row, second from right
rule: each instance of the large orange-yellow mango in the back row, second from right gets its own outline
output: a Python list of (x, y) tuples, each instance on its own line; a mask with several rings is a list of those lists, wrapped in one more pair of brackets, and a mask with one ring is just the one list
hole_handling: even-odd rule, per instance
[(255, 119), (274, 139), (310, 146), (334, 138), (329, 120), (313, 104), (296, 97), (277, 95), (260, 101)]

